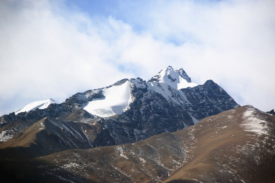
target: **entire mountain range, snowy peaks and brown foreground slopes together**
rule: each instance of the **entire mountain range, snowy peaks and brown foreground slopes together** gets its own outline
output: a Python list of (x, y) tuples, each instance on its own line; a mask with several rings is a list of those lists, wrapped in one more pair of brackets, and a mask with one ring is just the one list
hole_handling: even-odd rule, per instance
[(273, 182), (274, 122), (169, 66), (1, 116), (0, 172), (16, 182)]

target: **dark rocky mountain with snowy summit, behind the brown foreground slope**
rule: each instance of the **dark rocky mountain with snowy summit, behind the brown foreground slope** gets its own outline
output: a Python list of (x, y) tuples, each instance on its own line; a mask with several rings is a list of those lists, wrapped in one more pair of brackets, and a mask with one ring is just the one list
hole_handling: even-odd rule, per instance
[[(176, 72), (167, 67), (148, 82), (123, 79), (45, 109), (4, 115), (0, 118), (0, 147), (15, 147), (24, 137), (32, 139), (29, 144), (19, 144), (28, 149), (26, 154), (32, 148), (37, 151), (54, 144), (42, 148), (40, 154), (29, 154), (38, 157), (71, 148), (133, 143), (239, 106), (212, 80), (197, 85), (185, 80), (187, 76), (182, 69)], [(31, 128), (38, 130), (29, 132)], [(28, 133), (37, 135), (30, 138)]]

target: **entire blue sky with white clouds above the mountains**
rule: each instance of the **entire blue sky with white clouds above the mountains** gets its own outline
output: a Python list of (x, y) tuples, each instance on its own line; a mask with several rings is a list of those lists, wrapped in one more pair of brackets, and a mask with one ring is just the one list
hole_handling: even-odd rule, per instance
[(0, 2), (0, 115), (166, 66), (275, 108), (275, 2)]

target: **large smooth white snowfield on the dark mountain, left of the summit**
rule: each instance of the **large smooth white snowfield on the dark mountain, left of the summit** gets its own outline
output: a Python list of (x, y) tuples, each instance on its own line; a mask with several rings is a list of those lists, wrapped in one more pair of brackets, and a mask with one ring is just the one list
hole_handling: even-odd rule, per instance
[(104, 88), (102, 92), (105, 98), (93, 99), (84, 109), (93, 115), (109, 117), (122, 114), (129, 107), (131, 102), (130, 81)]

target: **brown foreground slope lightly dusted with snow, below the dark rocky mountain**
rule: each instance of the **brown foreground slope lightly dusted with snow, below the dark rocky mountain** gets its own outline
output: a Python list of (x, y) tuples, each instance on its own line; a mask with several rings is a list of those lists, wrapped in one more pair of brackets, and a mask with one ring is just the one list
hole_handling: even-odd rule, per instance
[(16, 182), (275, 182), (274, 142), (275, 116), (243, 106), (143, 141), (37, 158), (18, 159), (13, 153), (26, 144), (14, 140), (1, 150), (0, 172)]

